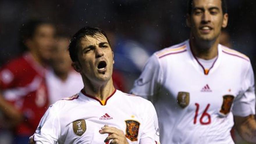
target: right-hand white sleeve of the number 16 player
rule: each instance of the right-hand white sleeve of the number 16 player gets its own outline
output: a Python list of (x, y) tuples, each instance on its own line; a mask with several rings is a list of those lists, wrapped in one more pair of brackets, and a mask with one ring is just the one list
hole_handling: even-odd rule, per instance
[(255, 114), (255, 86), (252, 65), (249, 64), (245, 72), (245, 78), (242, 79), (242, 91), (234, 100), (233, 114), (245, 117)]

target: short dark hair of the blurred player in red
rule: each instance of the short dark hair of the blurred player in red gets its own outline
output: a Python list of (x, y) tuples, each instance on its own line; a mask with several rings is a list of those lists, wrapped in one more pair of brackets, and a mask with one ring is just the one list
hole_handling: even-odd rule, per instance
[(40, 19), (30, 19), (19, 29), (19, 45), (21, 46), (22, 50), (27, 50), (28, 47), (25, 45), (26, 40), (31, 39), (35, 35), (35, 31), (38, 26), (42, 24), (52, 24), (48, 21), (43, 21)]

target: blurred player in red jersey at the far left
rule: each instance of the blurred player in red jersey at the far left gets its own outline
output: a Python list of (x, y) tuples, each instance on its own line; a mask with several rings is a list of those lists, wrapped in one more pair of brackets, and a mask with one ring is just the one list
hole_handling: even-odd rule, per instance
[(30, 20), (22, 25), (20, 33), (21, 45), (28, 51), (0, 69), (0, 110), (9, 127), (15, 128), (14, 143), (27, 143), (49, 106), (45, 72), (55, 27)]

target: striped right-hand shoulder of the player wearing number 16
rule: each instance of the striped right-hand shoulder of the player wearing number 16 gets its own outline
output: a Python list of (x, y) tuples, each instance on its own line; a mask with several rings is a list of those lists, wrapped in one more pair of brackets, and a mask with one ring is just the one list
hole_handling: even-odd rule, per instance
[(226, 56), (230, 56), (230, 58), (232, 58), (232, 59), (250, 62), (250, 58), (248, 56), (246, 56), (245, 54), (242, 54), (239, 51), (230, 49), (223, 45), (221, 45), (221, 50), (222, 50), (223, 54), (225, 54)]

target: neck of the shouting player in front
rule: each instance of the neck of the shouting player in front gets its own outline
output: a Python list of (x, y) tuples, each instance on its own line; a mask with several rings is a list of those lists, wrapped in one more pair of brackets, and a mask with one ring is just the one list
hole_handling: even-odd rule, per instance
[(89, 79), (85, 79), (83, 83), (83, 89), (86, 94), (94, 96), (99, 100), (106, 100), (115, 90), (112, 78), (109, 79), (109, 81), (102, 83), (92, 83)]

